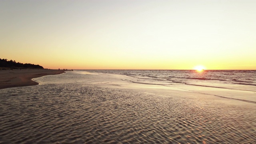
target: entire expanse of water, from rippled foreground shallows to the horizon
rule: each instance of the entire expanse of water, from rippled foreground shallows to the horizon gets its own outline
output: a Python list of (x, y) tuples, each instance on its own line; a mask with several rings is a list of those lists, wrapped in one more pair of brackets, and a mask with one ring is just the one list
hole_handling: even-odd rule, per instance
[(76, 70), (0, 90), (0, 143), (256, 143), (255, 71)]

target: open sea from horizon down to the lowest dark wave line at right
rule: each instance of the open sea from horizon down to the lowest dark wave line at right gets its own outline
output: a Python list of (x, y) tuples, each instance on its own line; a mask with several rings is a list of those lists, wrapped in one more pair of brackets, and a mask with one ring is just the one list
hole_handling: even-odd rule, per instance
[(179, 88), (256, 103), (256, 70), (87, 70), (122, 74), (127, 82)]

